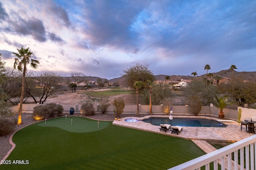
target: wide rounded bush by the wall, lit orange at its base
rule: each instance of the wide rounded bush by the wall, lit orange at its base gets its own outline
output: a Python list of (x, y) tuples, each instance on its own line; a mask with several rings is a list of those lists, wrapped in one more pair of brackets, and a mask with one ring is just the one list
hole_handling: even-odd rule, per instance
[(34, 120), (42, 120), (50, 117), (59, 117), (62, 116), (63, 107), (54, 103), (39, 105), (33, 108), (32, 117)]

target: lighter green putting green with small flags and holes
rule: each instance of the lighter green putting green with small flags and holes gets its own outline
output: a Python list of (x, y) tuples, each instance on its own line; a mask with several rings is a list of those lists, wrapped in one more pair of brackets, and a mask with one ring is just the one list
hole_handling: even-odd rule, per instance
[(109, 123), (106, 121), (88, 121), (82, 117), (59, 117), (38, 123), (38, 126), (59, 127), (65, 131), (74, 133), (99, 131), (108, 127), (108, 125)]

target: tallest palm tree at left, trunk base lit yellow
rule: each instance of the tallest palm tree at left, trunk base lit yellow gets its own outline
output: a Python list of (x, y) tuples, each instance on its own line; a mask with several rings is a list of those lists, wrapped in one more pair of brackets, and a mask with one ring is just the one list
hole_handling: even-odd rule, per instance
[(23, 124), (22, 104), (23, 104), (23, 98), (25, 93), (25, 76), (26, 76), (27, 64), (30, 63), (30, 66), (36, 69), (38, 67), (39, 61), (31, 59), (33, 53), (30, 51), (29, 48), (24, 49), (23, 47), (21, 47), (21, 49), (17, 49), (17, 50), (18, 50), (18, 53), (13, 53), (17, 57), (17, 58), (14, 58), (14, 69), (16, 69), (17, 67), (18, 70), (23, 71), (22, 88), (21, 88), (21, 95), (20, 95), (20, 108), (19, 108), (19, 115), (18, 115), (18, 125), (21, 125)]

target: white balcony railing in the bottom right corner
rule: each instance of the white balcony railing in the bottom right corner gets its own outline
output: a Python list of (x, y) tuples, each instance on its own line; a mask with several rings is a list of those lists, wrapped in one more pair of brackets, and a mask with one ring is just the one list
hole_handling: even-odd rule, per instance
[[(218, 164), (221, 170), (254, 170), (256, 167), (256, 135), (232, 143), (226, 147), (215, 150), (169, 170), (200, 170), (200, 167), (205, 166), (206, 170), (210, 170), (210, 163), (213, 162), (214, 170), (218, 170)], [(240, 150), (240, 165), (238, 164), (238, 150)], [(244, 154), (245, 150), (245, 154)], [(234, 153), (234, 160), (232, 160), (232, 153)], [(242, 167), (242, 168), (240, 168)]]

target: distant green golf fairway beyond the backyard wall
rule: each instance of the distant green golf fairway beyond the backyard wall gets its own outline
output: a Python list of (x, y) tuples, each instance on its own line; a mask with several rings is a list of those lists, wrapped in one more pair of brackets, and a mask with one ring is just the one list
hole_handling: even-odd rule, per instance
[(93, 97), (101, 97), (101, 96), (113, 96), (117, 94), (132, 94), (132, 91), (125, 90), (125, 89), (121, 90), (121, 88), (119, 87), (112, 87), (112, 88), (109, 88), (109, 90), (104, 90), (104, 91), (90, 90), (84, 93)]

